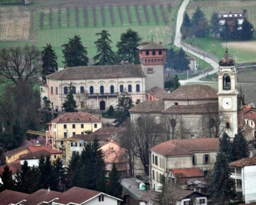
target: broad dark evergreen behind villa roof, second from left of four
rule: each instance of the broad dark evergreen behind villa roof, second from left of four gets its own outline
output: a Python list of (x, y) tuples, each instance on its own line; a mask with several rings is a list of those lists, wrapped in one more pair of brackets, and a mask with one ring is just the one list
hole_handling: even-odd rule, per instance
[(62, 45), (65, 67), (87, 66), (89, 62), (87, 50), (83, 46), (80, 36), (68, 39), (68, 44)]

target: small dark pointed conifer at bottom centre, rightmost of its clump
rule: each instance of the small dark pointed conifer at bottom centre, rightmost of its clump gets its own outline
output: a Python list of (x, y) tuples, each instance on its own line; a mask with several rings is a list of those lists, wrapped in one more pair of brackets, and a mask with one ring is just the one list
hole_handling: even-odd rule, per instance
[(123, 187), (120, 182), (121, 174), (118, 172), (118, 169), (115, 167), (115, 164), (113, 164), (113, 167), (110, 171), (109, 178), (108, 178), (108, 185), (107, 185), (107, 194), (121, 198)]

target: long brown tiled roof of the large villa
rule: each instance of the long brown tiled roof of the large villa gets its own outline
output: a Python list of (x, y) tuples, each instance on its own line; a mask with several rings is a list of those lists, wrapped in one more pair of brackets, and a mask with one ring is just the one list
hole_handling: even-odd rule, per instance
[(117, 77), (144, 77), (141, 64), (68, 67), (46, 76), (48, 79), (107, 79)]

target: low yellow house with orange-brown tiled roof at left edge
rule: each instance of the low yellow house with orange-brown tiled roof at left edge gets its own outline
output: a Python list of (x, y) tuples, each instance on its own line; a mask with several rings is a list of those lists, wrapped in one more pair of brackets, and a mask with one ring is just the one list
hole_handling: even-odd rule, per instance
[(55, 162), (58, 157), (62, 159), (61, 151), (50, 149), (49, 147), (42, 146), (41, 144), (24, 145), (16, 149), (7, 151), (5, 152), (5, 159), (6, 162), (9, 164), (12, 163), (13, 161), (20, 159), (22, 156), (26, 154), (35, 154), (39, 151), (45, 151), (48, 154), (50, 154), (52, 163)]

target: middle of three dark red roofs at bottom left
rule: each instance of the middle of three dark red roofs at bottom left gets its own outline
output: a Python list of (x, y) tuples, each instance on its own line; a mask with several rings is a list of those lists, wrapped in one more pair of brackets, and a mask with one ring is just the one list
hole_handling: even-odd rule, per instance
[(42, 202), (46, 202), (49, 204), (52, 200), (56, 200), (57, 198), (60, 198), (62, 196), (61, 192), (55, 192), (52, 190), (45, 190), (41, 189), (38, 190), (29, 196), (27, 196), (26, 202), (23, 202), (22, 204), (24, 205), (38, 205), (41, 204)]

